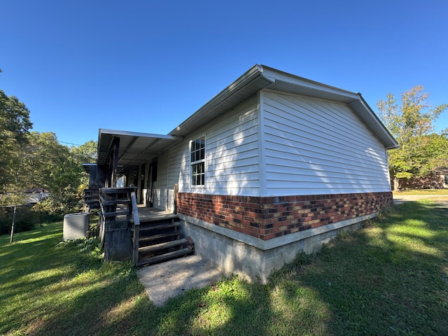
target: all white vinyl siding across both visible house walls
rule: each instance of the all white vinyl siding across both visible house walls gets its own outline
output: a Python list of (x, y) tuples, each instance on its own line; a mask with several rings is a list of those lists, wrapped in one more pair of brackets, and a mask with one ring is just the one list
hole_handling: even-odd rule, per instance
[[(160, 155), (155, 207), (173, 209), (175, 183), (181, 193), (242, 196), (391, 190), (384, 146), (348, 106), (269, 90), (259, 97), (260, 104), (258, 96), (248, 99)], [(198, 188), (190, 141), (204, 134), (206, 181)]]

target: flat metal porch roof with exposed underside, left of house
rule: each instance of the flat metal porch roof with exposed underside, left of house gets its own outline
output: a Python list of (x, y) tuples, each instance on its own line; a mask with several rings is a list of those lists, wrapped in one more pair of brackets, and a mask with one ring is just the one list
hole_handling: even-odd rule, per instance
[(120, 138), (118, 165), (137, 166), (156, 158), (182, 137), (162, 134), (99, 130), (98, 165), (106, 163), (114, 137)]

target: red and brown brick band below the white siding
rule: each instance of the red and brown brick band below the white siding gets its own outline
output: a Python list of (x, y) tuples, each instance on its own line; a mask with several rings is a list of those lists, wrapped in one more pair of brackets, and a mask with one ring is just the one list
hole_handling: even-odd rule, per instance
[(375, 214), (392, 203), (391, 192), (280, 197), (177, 194), (179, 214), (262, 240)]

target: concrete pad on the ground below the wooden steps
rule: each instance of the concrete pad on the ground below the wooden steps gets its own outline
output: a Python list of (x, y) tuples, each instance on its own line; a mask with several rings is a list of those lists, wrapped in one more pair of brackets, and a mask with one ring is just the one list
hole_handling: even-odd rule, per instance
[(137, 271), (149, 299), (155, 306), (164, 305), (190, 288), (204, 288), (222, 279), (222, 273), (200, 255), (188, 255)]

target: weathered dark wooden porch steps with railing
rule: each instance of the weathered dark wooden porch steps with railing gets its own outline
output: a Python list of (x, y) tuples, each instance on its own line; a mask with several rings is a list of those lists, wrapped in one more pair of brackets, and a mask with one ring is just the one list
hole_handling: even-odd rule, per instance
[(100, 236), (105, 260), (151, 265), (193, 253), (176, 214), (137, 204), (136, 187), (100, 188)]

